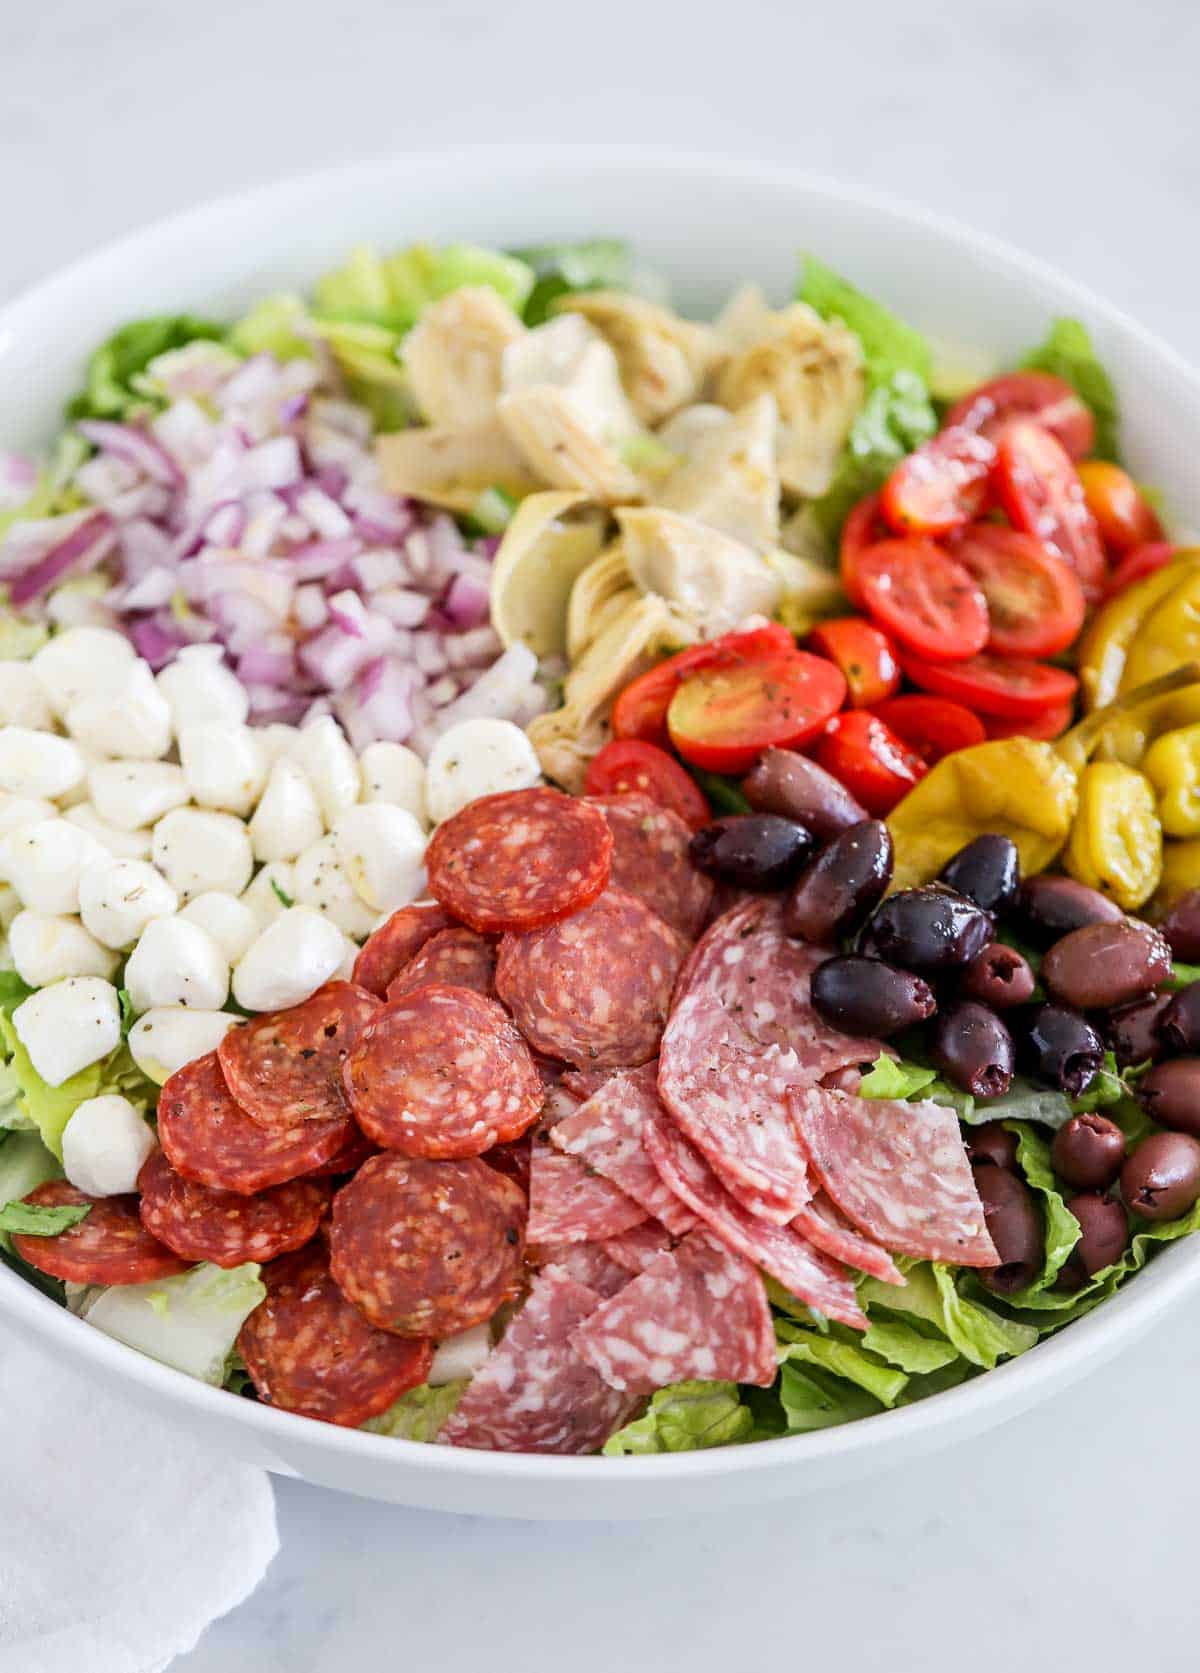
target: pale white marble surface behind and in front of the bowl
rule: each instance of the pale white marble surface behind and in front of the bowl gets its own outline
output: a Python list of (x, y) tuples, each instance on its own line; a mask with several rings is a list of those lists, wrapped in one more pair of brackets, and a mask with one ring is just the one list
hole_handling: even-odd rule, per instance
[[(464, 141), (646, 139), (924, 199), (1200, 358), (1193, 0), (38, 0), (15, 23), (0, 294), (251, 179)], [(271, 1574), (177, 1673), (1146, 1655), (1182, 1673), (1198, 1382), (1200, 1310), (932, 1462), (691, 1526), (465, 1521), (283, 1482)]]

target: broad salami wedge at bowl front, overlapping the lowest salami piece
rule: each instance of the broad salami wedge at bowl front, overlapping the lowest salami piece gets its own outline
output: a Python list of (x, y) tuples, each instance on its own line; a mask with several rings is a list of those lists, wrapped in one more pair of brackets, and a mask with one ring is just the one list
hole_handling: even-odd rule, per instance
[(576, 1352), (604, 1382), (653, 1394), (673, 1382), (775, 1380), (767, 1288), (750, 1261), (706, 1231), (690, 1231), (611, 1302), (576, 1327)]

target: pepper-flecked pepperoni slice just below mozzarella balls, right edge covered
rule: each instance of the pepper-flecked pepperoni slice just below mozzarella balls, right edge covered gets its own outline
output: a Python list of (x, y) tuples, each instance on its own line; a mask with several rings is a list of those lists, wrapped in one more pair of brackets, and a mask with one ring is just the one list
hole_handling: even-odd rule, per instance
[(365, 987), (330, 982), (301, 1005), (251, 1017), (218, 1046), (224, 1084), (259, 1128), (340, 1121), (346, 1114), (341, 1064), (378, 1009)]

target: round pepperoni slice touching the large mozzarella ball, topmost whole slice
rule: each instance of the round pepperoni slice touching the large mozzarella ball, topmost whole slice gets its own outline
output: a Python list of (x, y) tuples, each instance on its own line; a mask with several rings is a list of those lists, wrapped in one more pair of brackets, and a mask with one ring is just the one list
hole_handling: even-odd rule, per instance
[(561, 790), (470, 801), (433, 831), (430, 893), (474, 930), (536, 930), (591, 905), (609, 880), (613, 833), (599, 808)]

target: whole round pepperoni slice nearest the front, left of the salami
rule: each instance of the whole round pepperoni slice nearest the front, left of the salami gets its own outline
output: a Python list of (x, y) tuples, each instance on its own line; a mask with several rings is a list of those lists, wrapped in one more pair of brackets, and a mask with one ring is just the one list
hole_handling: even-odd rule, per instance
[(333, 1198), (330, 1270), (370, 1323), (452, 1337), (517, 1290), (526, 1198), (477, 1156), (372, 1156)]

